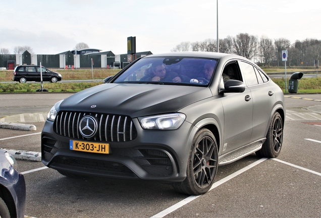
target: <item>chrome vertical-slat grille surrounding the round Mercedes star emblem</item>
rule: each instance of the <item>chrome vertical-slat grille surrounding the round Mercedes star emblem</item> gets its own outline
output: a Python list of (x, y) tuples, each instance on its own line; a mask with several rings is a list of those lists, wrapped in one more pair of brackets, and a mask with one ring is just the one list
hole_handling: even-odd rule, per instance
[(126, 142), (137, 137), (132, 119), (123, 115), (61, 111), (56, 117), (53, 129), (62, 136), (85, 139), (79, 131), (79, 122), (85, 116), (91, 116), (97, 120), (98, 130), (96, 135), (90, 138), (91, 140)]

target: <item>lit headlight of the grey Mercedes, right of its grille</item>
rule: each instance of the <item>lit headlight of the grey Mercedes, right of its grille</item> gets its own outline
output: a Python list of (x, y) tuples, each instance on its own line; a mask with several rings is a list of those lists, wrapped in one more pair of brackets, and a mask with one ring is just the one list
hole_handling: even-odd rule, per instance
[(176, 130), (186, 119), (186, 115), (175, 113), (139, 118), (143, 129), (148, 130)]

